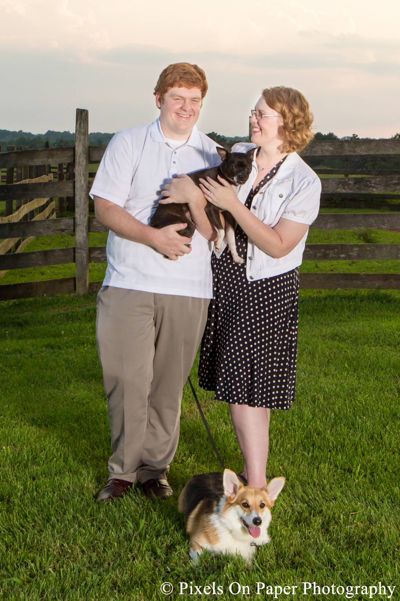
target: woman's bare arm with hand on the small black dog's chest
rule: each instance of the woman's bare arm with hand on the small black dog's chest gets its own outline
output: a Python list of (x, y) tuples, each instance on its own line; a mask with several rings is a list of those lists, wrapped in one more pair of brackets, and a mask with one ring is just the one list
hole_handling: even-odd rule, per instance
[[(205, 180), (200, 181), (204, 197), (218, 209), (229, 211), (249, 239), (261, 251), (266, 252), (273, 258), (285, 257), (293, 251), (309, 228), (308, 224), (300, 224), (297, 221), (284, 218), (279, 219), (278, 224), (271, 228), (255, 215), (252, 215), (240, 203), (230, 184), (222, 178), (219, 178), (222, 185), (214, 182), (209, 177), (207, 177), (207, 182)], [(211, 196), (209, 197), (210, 193)]]

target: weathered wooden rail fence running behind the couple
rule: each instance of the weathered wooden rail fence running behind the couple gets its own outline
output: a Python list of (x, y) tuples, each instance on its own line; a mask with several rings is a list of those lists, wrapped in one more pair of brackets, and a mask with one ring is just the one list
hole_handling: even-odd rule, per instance
[[(0, 200), (8, 203), (8, 211), (16, 201), (16, 212), (0, 220), (0, 240), (23, 240), (33, 236), (50, 234), (75, 234), (74, 248), (58, 248), (46, 251), (0, 253), (0, 271), (76, 263), (74, 278), (49, 279), (0, 285), (0, 301), (46, 294), (64, 294), (76, 291), (87, 294), (98, 291), (101, 282), (89, 283), (89, 263), (105, 263), (106, 248), (89, 248), (89, 232), (106, 232), (107, 228), (89, 216), (89, 163), (98, 163), (103, 157), (105, 146), (89, 147), (88, 111), (76, 111), (76, 146), (74, 148), (47, 148), (44, 150), (7, 151), (0, 154), (0, 168), (7, 169), (7, 183), (0, 186)], [(386, 207), (395, 212), (387, 213), (342, 213), (320, 214), (311, 228), (323, 230), (398, 230), (400, 204), (371, 203), (378, 200), (400, 200), (400, 171), (394, 169), (350, 169), (350, 162), (366, 160), (380, 162), (400, 156), (400, 140), (351, 140), (315, 141), (301, 153), (306, 162), (318, 159), (341, 159), (341, 169), (315, 169), (319, 174), (344, 175), (341, 178), (321, 178), (321, 206), (332, 204), (328, 198), (339, 199), (341, 207), (377, 209)], [(67, 164), (67, 179), (64, 166)], [(40, 165), (59, 165), (57, 181), (36, 181), (23, 178), (14, 183), (14, 169), (20, 174), (23, 169)], [(11, 170), (13, 180), (11, 181)], [(49, 171), (49, 169), (47, 169)], [(51, 171), (51, 170), (50, 170)], [(46, 172), (47, 178), (53, 177)], [(30, 174), (29, 174), (30, 175)], [(350, 177), (368, 175), (372, 177)], [(17, 176), (20, 177), (20, 176)], [(394, 194), (393, 194), (394, 193)], [(58, 197), (59, 212), (63, 211), (63, 199), (69, 199), (75, 208), (74, 217), (24, 221), (27, 211), (32, 211), (37, 199), (46, 203)], [(362, 201), (362, 202), (360, 202)], [(68, 204), (67, 202), (67, 204)], [(20, 203), (20, 204), (19, 204)], [(25, 203), (25, 204), (21, 204)], [(54, 203), (53, 203), (54, 204)], [(47, 210), (51, 203), (47, 205)], [(42, 205), (43, 206), (43, 205)], [(24, 208), (25, 207), (25, 208)], [(67, 207), (68, 208), (68, 207)], [(21, 211), (21, 209), (23, 209)], [(52, 206), (52, 210), (54, 207)], [(61, 210), (60, 210), (61, 209)], [(7, 211), (6, 211), (7, 213)], [(47, 215), (46, 215), (47, 216)], [(53, 215), (51, 215), (53, 216)], [(44, 215), (43, 215), (44, 217)], [(2, 244), (1, 242), (0, 244)], [(11, 244), (10, 242), (8, 244)], [(15, 242), (14, 242), (15, 245)], [(7, 246), (7, 244), (5, 245)], [(1, 248), (1, 247), (0, 247)], [(4, 247), (5, 248), (5, 247)], [(21, 247), (19, 247), (21, 248)], [(11, 246), (10, 246), (11, 249)], [(10, 250), (8, 249), (8, 250)], [(18, 249), (17, 249), (18, 251)], [(305, 260), (381, 260), (400, 259), (400, 244), (307, 244)], [(300, 273), (301, 288), (400, 288), (399, 273)]]

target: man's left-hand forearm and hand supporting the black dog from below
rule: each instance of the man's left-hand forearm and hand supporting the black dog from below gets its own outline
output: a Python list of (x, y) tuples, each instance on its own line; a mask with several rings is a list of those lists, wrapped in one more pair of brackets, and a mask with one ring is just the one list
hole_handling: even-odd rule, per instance
[(152, 246), (173, 261), (191, 251), (187, 245), (191, 243), (192, 239), (177, 233), (178, 230), (183, 230), (187, 224), (167, 225), (157, 230), (150, 225), (142, 224), (128, 211), (105, 198), (95, 196), (94, 202), (97, 221), (118, 236)]

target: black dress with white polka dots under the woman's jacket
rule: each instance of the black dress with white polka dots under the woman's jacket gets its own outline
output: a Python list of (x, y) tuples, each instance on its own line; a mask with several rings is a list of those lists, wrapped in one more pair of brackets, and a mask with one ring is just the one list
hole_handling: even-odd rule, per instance
[[(270, 180), (282, 159), (246, 199)], [(250, 407), (290, 409), (294, 401), (299, 302), (298, 268), (272, 278), (246, 278), (248, 238), (237, 225), (236, 247), (212, 257), (213, 299), (201, 341), (200, 386), (217, 400)]]

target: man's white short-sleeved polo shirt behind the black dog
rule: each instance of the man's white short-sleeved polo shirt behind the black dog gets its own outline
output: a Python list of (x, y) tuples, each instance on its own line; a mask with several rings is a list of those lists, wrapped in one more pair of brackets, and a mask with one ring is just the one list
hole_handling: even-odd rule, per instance
[[(217, 144), (197, 127), (187, 142), (173, 148), (158, 118), (154, 123), (116, 133), (107, 146), (90, 195), (124, 207), (149, 225), (162, 197), (161, 186), (179, 173), (217, 166)], [(107, 240), (107, 271), (104, 286), (212, 298), (210, 257), (213, 243), (196, 230), (192, 250), (177, 261), (165, 259), (151, 246), (132, 242), (113, 231)]]

